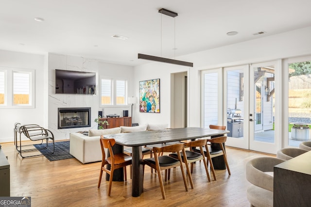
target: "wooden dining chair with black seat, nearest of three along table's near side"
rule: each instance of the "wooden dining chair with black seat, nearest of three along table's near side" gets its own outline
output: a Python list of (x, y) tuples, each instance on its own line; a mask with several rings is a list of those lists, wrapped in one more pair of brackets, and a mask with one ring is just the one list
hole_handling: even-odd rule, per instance
[[(184, 172), (183, 161), (182, 161), (181, 153), (180, 153), (181, 151), (182, 151), (184, 157), (186, 158), (187, 156), (186, 156), (186, 152), (185, 152), (185, 148), (184, 148), (183, 143), (171, 144), (171, 145), (166, 145), (166, 146), (162, 146), (162, 147), (153, 147), (154, 157), (149, 158), (149, 159), (143, 159), (143, 162), (142, 162), (143, 170), (144, 170), (144, 166), (148, 165), (158, 172), (157, 175), (159, 177), (163, 199), (165, 199), (166, 196), (165, 196), (164, 185), (163, 185), (163, 180), (162, 180), (162, 175), (161, 175), (162, 170), (165, 170), (165, 181), (166, 181), (168, 169), (180, 166), (181, 174), (182, 174), (183, 179), (184, 179), (185, 189), (186, 189), (186, 191), (188, 191), (186, 175)], [(160, 153), (164, 153), (164, 152), (169, 152), (169, 153), (176, 152), (178, 159), (172, 158), (168, 155), (159, 156)], [(186, 167), (187, 167), (188, 166), (187, 159), (185, 159), (185, 163), (186, 163)], [(187, 172), (188, 172), (188, 174), (190, 174), (189, 166), (187, 167)], [(190, 177), (191, 177), (191, 175), (190, 175)], [(191, 180), (192, 180), (192, 178), (191, 178)]]

